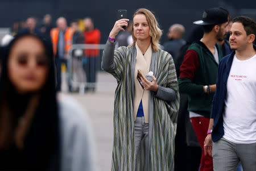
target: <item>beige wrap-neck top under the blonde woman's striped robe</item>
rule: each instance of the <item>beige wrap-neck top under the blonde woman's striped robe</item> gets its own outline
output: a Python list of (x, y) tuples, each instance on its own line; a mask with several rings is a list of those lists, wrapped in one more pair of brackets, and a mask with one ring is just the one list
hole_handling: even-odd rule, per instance
[(135, 71), (134, 71), (134, 101), (133, 101), (133, 110), (134, 110), (134, 120), (136, 120), (137, 112), (139, 109), (139, 103), (142, 100), (143, 112), (144, 112), (144, 120), (145, 123), (148, 123), (148, 97), (149, 91), (142, 89), (141, 85), (137, 80), (138, 69), (141, 70), (141, 73), (145, 76), (150, 70), (151, 57), (152, 57), (152, 48), (151, 44), (147, 48), (146, 53), (143, 55), (141, 49), (139, 49), (137, 43), (137, 56), (135, 62)]

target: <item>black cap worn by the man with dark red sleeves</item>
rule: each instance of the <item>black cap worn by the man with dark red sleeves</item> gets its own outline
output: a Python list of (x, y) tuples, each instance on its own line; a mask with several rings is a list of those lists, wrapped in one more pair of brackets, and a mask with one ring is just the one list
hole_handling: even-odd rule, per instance
[(212, 8), (203, 12), (203, 19), (193, 22), (197, 25), (213, 25), (228, 22), (228, 12), (222, 8)]

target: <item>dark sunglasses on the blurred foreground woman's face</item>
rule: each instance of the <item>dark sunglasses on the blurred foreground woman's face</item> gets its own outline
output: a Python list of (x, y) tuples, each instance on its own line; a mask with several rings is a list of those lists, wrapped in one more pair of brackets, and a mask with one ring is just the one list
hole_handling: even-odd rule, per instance
[[(27, 56), (18, 56), (17, 62), (20, 66), (27, 66), (28, 65), (28, 61), (30, 59)], [(43, 57), (43, 56), (38, 56), (36, 57), (36, 66), (38, 67), (47, 67), (49, 65), (49, 61), (47, 59), (47, 57)]]

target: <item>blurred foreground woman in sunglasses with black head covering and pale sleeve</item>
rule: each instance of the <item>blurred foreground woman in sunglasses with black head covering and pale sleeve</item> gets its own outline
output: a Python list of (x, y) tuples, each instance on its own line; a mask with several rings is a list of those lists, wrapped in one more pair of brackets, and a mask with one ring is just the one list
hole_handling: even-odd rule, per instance
[(94, 170), (86, 115), (56, 96), (52, 44), (32, 34), (5, 47), (0, 77), (1, 170)]

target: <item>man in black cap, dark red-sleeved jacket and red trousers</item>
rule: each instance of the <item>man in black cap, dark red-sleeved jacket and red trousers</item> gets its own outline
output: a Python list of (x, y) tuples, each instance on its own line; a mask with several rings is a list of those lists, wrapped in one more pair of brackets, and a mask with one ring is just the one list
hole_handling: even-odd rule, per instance
[(211, 156), (204, 155), (204, 140), (208, 132), (212, 99), (216, 90), (218, 63), (222, 59), (220, 44), (228, 26), (228, 12), (212, 8), (203, 12), (203, 19), (194, 22), (204, 28), (200, 41), (192, 43), (180, 66), (180, 93), (188, 94), (188, 111), (197, 140), (202, 148), (200, 171), (213, 170)]

